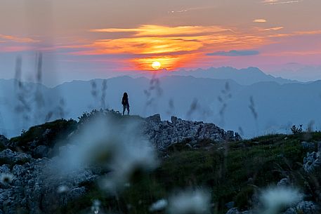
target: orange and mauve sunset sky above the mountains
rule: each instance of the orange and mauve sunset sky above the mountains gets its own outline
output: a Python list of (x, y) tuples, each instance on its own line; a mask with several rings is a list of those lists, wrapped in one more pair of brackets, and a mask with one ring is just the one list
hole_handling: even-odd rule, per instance
[(0, 69), (38, 51), (73, 74), (79, 63), (91, 74), (152, 70), (155, 61), (167, 70), (319, 66), (320, 8), (319, 0), (2, 0)]

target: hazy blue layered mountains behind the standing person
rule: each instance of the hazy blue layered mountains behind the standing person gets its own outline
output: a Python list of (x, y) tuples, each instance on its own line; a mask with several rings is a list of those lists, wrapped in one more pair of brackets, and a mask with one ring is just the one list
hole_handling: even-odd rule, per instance
[[(45, 121), (62, 117), (77, 119), (91, 109), (108, 108), (121, 112), (125, 91), (129, 93), (131, 114), (160, 114), (162, 120), (178, 116), (214, 123), (225, 130), (240, 132), (243, 138), (287, 133), (294, 124), (303, 124), (303, 128), (308, 128), (308, 124), (321, 127), (318, 112), (321, 81), (296, 83), (251, 67), (241, 70), (225, 67), (213, 69), (213, 72), (199, 70), (192, 74), (197, 72), (207, 78), (119, 76), (66, 82), (54, 88), (39, 83), (1, 80), (0, 130), (13, 136)], [(234, 75), (237, 72), (240, 75)], [(234, 80), (228, 78), (229, 75)]]

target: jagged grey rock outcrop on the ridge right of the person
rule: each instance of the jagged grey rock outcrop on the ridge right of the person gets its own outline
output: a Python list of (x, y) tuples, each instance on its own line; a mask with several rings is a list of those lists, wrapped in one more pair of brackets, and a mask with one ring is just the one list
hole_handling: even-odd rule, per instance
[(145, 119), (145, 135), (158, 148), (166, 148), (178, 142), (197, 142), (199, 140), (242, 140), (238, 133), (224, 131), (214, 123), (185, 121), (175, 116), (171, 121), (162, 121), (159, 114)]

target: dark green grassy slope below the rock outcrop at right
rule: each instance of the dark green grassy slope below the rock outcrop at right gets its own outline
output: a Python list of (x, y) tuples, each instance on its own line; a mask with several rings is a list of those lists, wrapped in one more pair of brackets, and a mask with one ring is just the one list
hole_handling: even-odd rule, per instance
[[(307, 139), (308, 137), (308, 139)], [(61, 213), (81, 213), (93, 199), (103, 201), (105, 210), (124, 213), (150, 213), (150, 204), (166, 198), (178, 189), (202, 187), (211, 191), (214, 213), (225, 213), (225, 203), (235, 201), (240, 210), (251, 206), (252, 195), (260, 187), (276, 185), (286, 176), (301, 191), (311, 194), (307, 175), (302, 170), (306, 149), (302, 140), (321, 140), (321, 133), (267, 135), (252, 140), (229, 142), (211, 149), (191, 150), (176, 145), (149, 175), (137, 175), (131, 187), (114, 196), (101, 192), (96, 184), (87, 184), (89, 192), (62, 208)], [(204, 142), (204, 145), (210, 142)], [(186, 149), (185, 149), (186, 148)]]

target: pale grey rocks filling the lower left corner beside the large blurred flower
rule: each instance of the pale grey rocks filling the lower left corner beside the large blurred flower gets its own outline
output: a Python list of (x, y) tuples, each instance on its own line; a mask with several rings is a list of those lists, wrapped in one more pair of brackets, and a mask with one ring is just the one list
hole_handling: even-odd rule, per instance
[[(8, 154), (14, 161), (17, 154), (6, 149), (1, 155)], [(15, 154), (15, 155), (13, 155)], [(20, 155), (20, 154), (19, 154)], [(25, 154), (30, 158), (29, 155)], [(24, 164), (15, 164), (12, 168), (7, 164), (0, 167), (0, 173), (12, 178), (1, 180), (0, 213), (55, 213), (58, 206), (84, 194), (86, 182), (98, 175), (86, 168), (77, 172), (68, 172), (61, 176), (55, 170), (55, 159), (30, 159)]]

